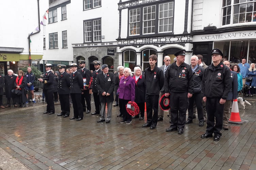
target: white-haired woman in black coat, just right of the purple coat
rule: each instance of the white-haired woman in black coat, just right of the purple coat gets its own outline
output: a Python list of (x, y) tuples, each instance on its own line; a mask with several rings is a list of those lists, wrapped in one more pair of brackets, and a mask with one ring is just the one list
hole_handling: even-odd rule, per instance
[[(140, 108), (140, 120), (143, 120), (145, 112), (146, 79), (145, 76), (142, 75), (140, 67), (134, 67), (133, 79), (135, 80), (135, 102)], [(133, 116), (132, 118), (139, 118), (139, 115)]]

